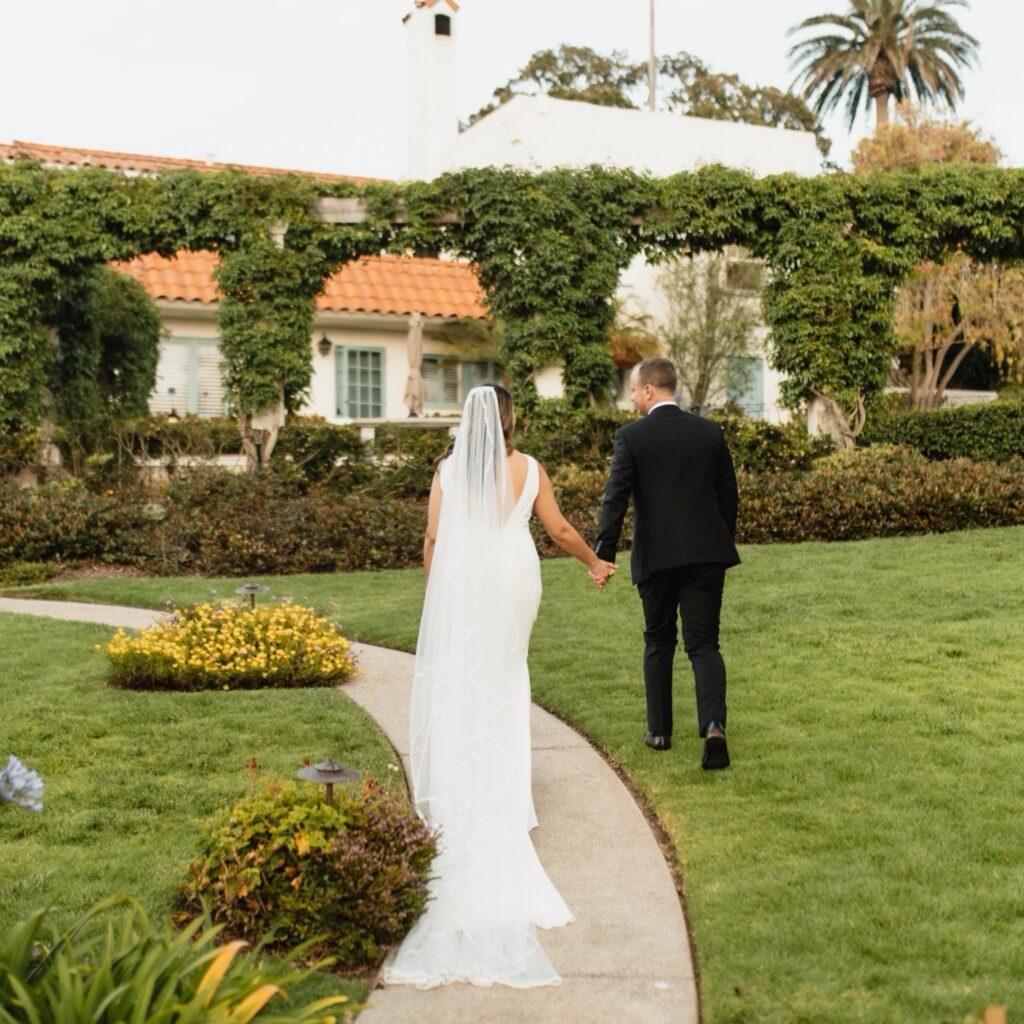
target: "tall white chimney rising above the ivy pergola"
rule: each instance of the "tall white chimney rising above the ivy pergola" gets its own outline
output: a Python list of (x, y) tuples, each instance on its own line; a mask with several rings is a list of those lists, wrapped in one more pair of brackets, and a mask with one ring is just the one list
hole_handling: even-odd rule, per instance
[(453, 161), (459, 137), (455, 0), (416, 0), (406, 26), (406, 118), (411, 179), (429, 181)]

